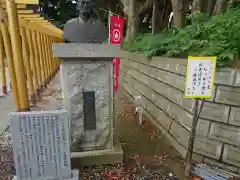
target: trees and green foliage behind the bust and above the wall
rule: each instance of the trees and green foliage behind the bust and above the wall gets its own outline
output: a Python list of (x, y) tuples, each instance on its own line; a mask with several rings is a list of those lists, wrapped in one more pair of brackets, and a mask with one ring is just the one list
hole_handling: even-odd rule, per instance
[[(232, 65), (239, 56), (240, 0), (208, 0), (208, 3), (205, 0), (157, 0), (157, 13), (153, 12), (153, 2), (95, 0), (94, 5), (96, 13), (106, 25), (107, 10), (126, 18), (124, 48), (128, 51), (148, 57), (217, 56), (218, 67)], [(41, 0), (41, 9), (44, 14), (58, 21), (60, 28), (67, 20), (78, 15), (76, 3), (72, 0)], [(183, 11), (175, 12), (174, 9)], [(178, 13), (176, 16), (182, 13), (184, 18), (173, 18), (173, 22), (166, 23), (171, 12)], [(158, 14), (155, 21), (154, 14)], [(132, 19), (135, 21), (131, 22)], [(153, 26), (153, 23), (158, 26), (154, 34), (149, 26)]]

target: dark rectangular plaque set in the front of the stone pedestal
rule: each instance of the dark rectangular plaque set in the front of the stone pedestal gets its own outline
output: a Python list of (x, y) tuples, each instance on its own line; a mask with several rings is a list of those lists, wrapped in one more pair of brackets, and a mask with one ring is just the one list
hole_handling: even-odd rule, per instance
[(83, 92), (84, 129), (96, 130), (95, 92)]

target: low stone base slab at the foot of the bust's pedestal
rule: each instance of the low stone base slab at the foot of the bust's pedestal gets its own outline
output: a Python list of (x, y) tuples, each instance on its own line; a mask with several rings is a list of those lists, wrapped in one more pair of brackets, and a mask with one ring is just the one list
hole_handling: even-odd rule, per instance
[(113, 149), (71, 153), (72, 168), (81, 166), (118, 164), (123, 162), (123, 150), (119, 143)]

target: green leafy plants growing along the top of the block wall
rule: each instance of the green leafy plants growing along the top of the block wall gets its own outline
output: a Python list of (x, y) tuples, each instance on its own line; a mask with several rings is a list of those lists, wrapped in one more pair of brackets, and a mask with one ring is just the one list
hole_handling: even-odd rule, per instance
[(148, 57), (217, 56), (218, 67), (229, 66), (240, 52), (240, 10), (213, 17), (199, 13), (189, 18), (192, 24), (183, 29), (169, 29), (155, 36), (144, 34), (124, 48)]

